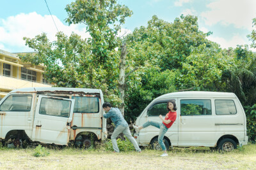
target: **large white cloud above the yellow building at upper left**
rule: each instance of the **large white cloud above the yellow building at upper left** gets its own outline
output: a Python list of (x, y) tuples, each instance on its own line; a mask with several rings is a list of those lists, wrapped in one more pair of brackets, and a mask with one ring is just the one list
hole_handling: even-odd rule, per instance
[[(56, 16), (52, 16), (59, 31), (64, 32), (68, 36), (75, 32), (82, 38), (88, 38), (89, 34), (85, 33), (85, 27), (81, 25), (64, 25)], [(50, 41), (56, 39), (57, 29), (52, 21), (51, 15), (39, 15), (33, 13), (20, 13), (19, 15), (0, 19), (0, 48), (8, 52), (31, 52), (25, 45), (23, 37), (34, 38), (38, 34), (45, 32)], [(17, 51), (19, 49), (20, 51)]]

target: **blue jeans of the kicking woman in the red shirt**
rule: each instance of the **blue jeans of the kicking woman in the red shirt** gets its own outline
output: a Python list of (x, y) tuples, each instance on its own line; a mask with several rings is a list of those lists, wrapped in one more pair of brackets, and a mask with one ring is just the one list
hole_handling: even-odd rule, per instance
[(162, 150), (166, 150), (166, 147), (163, 142), (164, 134), (168, 131), (168, 128), (163, 124), (163, 122), (155, 122), (148, 120), (145, 124), (143, 124), (143, 128), (148, 127), (149, 125), (152, 125), (154, 127), (157, 127), (160, 129), (159, 135), (158, 135), (158, 143), (161, 146)]

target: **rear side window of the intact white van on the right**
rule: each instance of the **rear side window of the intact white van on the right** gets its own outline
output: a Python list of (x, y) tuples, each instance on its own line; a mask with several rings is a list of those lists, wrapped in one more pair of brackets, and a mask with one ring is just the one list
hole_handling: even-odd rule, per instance
[(232, 100), (215, 100), (216, 115), (236, 115), (236, 105)]

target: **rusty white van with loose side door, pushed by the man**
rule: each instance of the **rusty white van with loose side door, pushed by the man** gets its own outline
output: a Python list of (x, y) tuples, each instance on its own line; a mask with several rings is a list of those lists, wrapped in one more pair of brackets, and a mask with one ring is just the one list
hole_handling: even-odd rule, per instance
[(0, 101), (0, 138), (86, 148), (107, 138), (104, 103), (99, 89), (24, 88)]

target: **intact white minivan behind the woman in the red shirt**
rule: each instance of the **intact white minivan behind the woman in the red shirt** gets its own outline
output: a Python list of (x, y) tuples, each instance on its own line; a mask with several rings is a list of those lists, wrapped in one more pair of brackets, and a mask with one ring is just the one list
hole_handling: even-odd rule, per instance
[[(167, 102), (175, 100), (177, 119), (164, 136), (169, 146), (205, 146), (231, 151), (237, 145), (246, 145), (246, 117), (243, 106), (233, 93), (227, 92), (173, 92), (157, 97), (136, 119), (141, 126), (148, 120), (161, 122), (168, 113)], [(151, 145), (159, 149), (159, 129), (149, 126), (134, 134), (140, 146)]]

